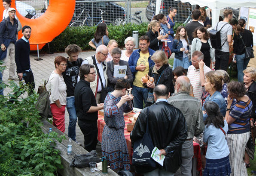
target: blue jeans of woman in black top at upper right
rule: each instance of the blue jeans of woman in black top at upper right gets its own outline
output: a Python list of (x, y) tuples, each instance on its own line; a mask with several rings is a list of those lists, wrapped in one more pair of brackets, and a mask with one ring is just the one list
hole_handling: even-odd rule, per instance
[(245, 58), (245, 54), (236, 55), (236, 65), (238, 67), (238, 81), (243, 82), (244, 81), (244, 73), (243, 71), (246, 69), (248, 63), (250, 61), (250, 58)]

